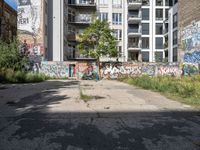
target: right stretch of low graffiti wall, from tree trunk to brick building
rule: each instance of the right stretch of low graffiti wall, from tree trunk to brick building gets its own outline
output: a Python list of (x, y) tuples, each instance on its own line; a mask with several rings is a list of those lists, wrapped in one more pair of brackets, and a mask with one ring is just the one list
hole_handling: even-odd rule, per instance
[(102, 63), (101, 77), (116, 79), (131, 76), (180, 76), (182, 69), (178, 64), (128, 64), (128, 63)]

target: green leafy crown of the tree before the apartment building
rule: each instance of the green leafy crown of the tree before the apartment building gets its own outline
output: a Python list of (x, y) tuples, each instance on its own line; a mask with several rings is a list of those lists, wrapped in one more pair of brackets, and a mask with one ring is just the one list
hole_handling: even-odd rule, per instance
[(113, 30), (106, 21), (96, 20), (79, 35), (77, 48), (85, 57), (97, 58), (101, 56), (116, 57), (116, 39)]

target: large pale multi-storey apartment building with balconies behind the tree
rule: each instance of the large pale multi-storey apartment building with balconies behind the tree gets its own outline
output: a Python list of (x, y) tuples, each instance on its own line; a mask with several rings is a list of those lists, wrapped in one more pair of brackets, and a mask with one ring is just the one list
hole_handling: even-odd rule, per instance
[(96, 18), (107, 20), (114, 29), (117, 60), (163, 62), (169, 59), (168, 14), (177, 0), (49, 0), (48, 3), (48, 54), (53, 61), (81, 58), (76, 48), (77, 35)]

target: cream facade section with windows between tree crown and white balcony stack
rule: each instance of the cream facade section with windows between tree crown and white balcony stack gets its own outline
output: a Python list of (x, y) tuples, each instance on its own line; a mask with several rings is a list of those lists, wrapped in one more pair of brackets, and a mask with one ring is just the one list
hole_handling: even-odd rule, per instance
[(117, 40), (117, 58), (102, 57), (101, 61), (126, 61), (125, 55), (125, 6), (122, 0), (98, 0), (97, 15), (101, 21), (108, 21), (110, 28), (114, 30), (113, 35)]

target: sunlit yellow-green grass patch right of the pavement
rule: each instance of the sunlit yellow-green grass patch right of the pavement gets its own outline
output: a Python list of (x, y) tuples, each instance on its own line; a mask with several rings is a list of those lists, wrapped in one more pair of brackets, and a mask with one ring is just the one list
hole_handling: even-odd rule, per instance
[(160, 92), (168, 98), (200, 107), (200, 75), (193, 77), (141, 76), (120, 78), (119, 81)]

